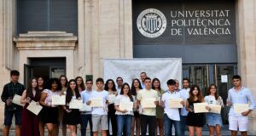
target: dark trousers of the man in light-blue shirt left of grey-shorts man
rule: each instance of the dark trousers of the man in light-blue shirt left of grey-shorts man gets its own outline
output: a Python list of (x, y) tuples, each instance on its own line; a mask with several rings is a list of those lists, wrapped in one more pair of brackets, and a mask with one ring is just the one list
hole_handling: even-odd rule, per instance
[(82, 136), (86, 136), (86, 128), (87, 128), (87, 124), (89, 122), (90, 125), (90, 136), (93, 135), (92, 133), (92, 122), (91, 122), (91, 114), (82, 114), (81, 115), (81, 135)]

